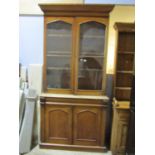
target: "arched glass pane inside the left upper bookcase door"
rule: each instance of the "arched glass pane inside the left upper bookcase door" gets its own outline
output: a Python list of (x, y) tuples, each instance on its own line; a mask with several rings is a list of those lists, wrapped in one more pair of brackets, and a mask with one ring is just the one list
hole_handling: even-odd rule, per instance
[(63, 21), (47, 24), (46, 67), (47, 87), (71, 87), (72, 25)]

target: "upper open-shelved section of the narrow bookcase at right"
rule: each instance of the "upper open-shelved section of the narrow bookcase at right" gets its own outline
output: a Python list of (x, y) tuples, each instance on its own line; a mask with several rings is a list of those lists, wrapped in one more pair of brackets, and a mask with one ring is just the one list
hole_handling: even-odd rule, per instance
[(114, 97), (118, 101), (130, 101), (135, 59), (135, 25), (116, 23), (114, 28), (117, 32)]

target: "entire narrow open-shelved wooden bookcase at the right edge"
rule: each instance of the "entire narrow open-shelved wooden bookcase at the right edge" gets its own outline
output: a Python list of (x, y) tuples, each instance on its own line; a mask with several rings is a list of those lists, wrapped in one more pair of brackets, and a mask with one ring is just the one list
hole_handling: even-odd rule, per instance
[(125, 155), (134, 74), (135, 25), (133, 23), (116, 23), (114, 28), (117, 33), (117, 47), (111, 150), (114, 155)]

